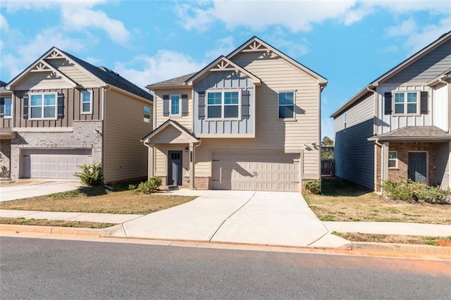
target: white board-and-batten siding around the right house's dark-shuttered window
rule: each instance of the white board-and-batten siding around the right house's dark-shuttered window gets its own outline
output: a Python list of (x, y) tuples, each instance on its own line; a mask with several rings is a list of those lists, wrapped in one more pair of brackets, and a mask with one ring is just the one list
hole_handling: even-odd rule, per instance
[[(385, 92), (428, 92), (428, 113), (418, 114), (418, 115), (395, 115), (393, 112), (390, 115), (384, 114), (385, 109)], [(377, 87), (376, 92), (378, 93), (378, 115), (379, 118), (376, 120), (376, 125), (378, 127), (377, 134), (381, 135), (385, 132), (390, 132), (397, 130), (406, 126), (431, 126), (433, 109), (431, 104), (431, 89), (424, 85), (381, 85)], [(394, 97), (393, 97), (394, 98)], [(421, 98), (421, 97), (419, 97)], [(420, 106), (420, 99), (418, 99), (418, 105)], [(394, 111), (393, 99), (392, 108)]]

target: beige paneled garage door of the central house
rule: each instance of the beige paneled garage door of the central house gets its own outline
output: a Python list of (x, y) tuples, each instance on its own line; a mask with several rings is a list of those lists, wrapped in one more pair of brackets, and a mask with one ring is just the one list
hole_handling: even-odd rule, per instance
[(299, 192), (299, 154), (214, 154), (213, 189)]

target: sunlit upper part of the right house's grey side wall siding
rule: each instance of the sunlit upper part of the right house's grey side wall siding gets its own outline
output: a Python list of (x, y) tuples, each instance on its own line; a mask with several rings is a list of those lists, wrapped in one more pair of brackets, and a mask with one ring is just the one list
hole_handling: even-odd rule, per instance
[(347, 109), (347, 111), (338, 115), (334, 120), (334, 130), (338, 132), (345, 129), (345, 113), (346, 127), (360, 124), (366, 120), (373, 118), (374, 115), (374, 95), (366, 94), (360, 101)]

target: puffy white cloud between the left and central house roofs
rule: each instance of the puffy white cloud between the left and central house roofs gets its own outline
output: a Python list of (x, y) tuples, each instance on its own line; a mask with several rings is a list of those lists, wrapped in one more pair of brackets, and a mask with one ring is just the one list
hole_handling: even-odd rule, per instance
[[(134, 68), (140, 65), (140, 69)], [(137, 56), (128, 63), (115, 63), (113, 70), (135, 85), (146, 85), (179, 77), (201, 70), (204, 63), (194, 61), (183, 53), (160, 50), (154, 56)]]

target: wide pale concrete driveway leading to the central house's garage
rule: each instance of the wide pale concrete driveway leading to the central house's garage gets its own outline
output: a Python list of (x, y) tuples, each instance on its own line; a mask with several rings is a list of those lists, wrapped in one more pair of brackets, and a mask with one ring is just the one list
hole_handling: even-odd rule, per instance
[(299, 193), (189, 191), (197, 199), (107, 228), (105, 235), (280, 246), (341, 246)]

